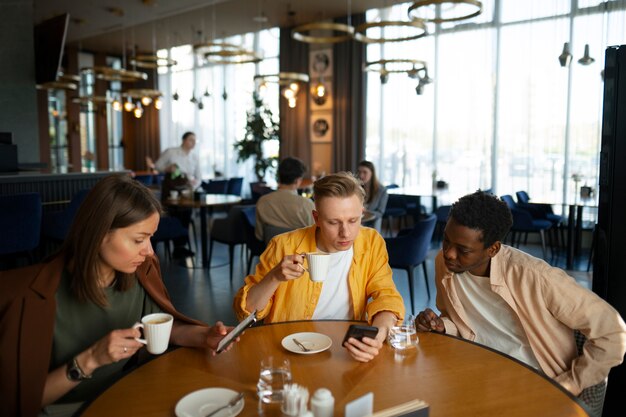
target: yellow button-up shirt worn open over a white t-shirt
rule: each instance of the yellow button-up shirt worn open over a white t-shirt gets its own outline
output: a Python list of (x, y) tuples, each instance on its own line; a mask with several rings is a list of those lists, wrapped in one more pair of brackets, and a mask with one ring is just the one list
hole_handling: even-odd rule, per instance
[[(313, 225), (274, 237), (260, 257), (254, 275), (235, 296), (234, 309), (239, 320), (250, 312), (246, 309), (248, 291), (278, 265), (285, 255), (316, 252)], [(298, 279), (281, 283), (267, 305), (257, 311), (265, 323), (310, 320), (322, 291), (322, 282), (313, 282), (304, 274)], [(361, 227), (354, 241), (354, 257), (348, 273), (348, 287), (354, 320), (369, 320), (381, 311), (404, 317), (404, 301), (393, 283), (389, 256), (384, 239), (374, 229)], [(368, 300), (371, 301), (368, 302)]]

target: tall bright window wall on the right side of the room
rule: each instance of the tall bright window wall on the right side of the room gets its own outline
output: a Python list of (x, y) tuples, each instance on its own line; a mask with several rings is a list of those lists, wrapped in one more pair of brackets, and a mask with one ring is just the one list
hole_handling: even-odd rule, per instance
[[(446, 181), (444, 202), (481, 188), (568, 203), (576, 187), (597, 189), (604, 50), (626, 43), (626, 1), (484, 4), (478, 18), (432, 25), (426, 38), (367, 47), (368, 61), (425, 60), (435, 79), (416, 95), (404, 74), (384, 85), (368, 74), (367, 158), (385, 184), (427, 193)], [(367, 18), (404, 19), (406, 9)], [(565, 42), (573, 56), (563, 68)], [(587, 44), (595, 62), (581, 65)]]

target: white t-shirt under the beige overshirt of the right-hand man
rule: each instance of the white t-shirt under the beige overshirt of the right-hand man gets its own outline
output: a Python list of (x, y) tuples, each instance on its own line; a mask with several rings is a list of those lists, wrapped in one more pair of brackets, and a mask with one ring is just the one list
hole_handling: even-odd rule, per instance
[(454, 279), (470, 321), (467, 324), (476, 333), (474, 341), (540, 369), (515, 312), (491, 290), (489, 278), (464, 272), (454, 274)]

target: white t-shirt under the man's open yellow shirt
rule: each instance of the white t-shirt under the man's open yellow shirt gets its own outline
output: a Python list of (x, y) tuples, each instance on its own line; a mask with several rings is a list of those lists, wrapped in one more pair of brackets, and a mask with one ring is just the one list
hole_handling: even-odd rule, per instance
[(329, 256), (328, 276), (322, 285), (322, 292), (312, 319), (351, 320), (354, 318), (354, 312), (350, 302), (348, 273), (352, 265), (354, 248), (331, 253)]

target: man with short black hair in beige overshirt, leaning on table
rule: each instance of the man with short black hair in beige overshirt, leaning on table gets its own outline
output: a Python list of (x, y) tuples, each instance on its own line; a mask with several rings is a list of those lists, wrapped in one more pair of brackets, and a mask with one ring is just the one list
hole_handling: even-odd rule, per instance
[[(622, 362), (626, 325), (563, 270), (503, 245), (512, 222), (506, 203), (482, 191), (452, 206), (435, 261), (441, 316), (426, 309), (416, 326), (506, 353), (579, 395)], [(581, 355), (575, 330), (586, 337)]]

